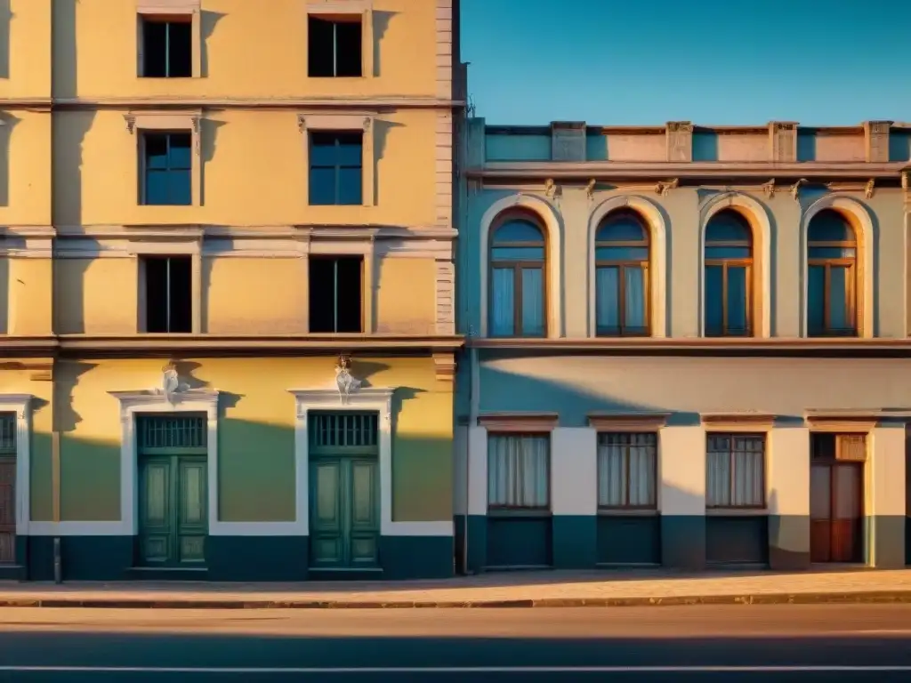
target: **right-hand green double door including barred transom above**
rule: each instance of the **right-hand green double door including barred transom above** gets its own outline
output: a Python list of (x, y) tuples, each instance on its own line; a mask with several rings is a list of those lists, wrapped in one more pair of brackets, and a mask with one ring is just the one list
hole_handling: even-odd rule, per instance
[(310, 564), (377, 566), (380, 482), (376, 415), (314, 413), (310, 438)]

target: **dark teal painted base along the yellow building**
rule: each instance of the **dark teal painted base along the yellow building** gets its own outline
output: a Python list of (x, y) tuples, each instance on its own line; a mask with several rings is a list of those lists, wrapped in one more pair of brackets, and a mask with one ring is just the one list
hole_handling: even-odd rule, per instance
[[(24, 537), (28, 557), (22, 578), (54, 580), (54, 539)], [(167, 580), (305, 581), (308, 572), (306, 536), (209, 536), (202, 572), (137, 569), (135, 536), (63, 536), (61, 568), (65, 581)], [(380, 539), (384, 580), (447, 578), (453, 576), (452, 536), (383, 536)], [(354, 579), (346, 572), (333, 579)], [(19, 576), (10, 577), (19, 578)], [(314, 577), (315, 578), (315, 577)], [(325, 578), (321, 576), (320, 578)]]

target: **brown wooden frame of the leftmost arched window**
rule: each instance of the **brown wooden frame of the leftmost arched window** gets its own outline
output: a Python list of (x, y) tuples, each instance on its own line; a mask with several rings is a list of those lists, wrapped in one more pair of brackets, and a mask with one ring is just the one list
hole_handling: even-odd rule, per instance
[[(513, 220), (525, 220), (534, 225), (541, 233), (540, 242), (510, 242), (508, 246), (514, 249), (528, 249), (541, 247), (544, 250), (544, 258), (539, 261), (531, 260), (494, 260), (494, 242), (496, 232)], [(526, 211), (510, 211), (496, 220), (487, 234), (487, 336), (496, 339), (547, 339), (550, 333), (550, 321), (548, 311), (550, 310), (550, 279), (548, 278), (548, 263), (550, 261), (550, 243), (548, 240), (548, 231), (546, 227), (537, 219), (536, 216)], [(522, 330), (522, 270), (540, 270), (541, 271), (541, 315), (544, 320), (544, 330), (540, 335), (525, 334)], [(512, 270), (513, 271), (513, 333), (512, 334), (494, 334), (493, 325), (490, 317), (494, 312), (494, 296), (496, 286), (494, 284), (494, 270)]]

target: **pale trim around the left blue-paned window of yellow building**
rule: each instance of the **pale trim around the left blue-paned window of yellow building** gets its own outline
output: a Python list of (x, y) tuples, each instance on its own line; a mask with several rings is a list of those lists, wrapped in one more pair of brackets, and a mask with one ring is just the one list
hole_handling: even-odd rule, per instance
[[(146, 204), (145, 196), (145, 174), (146, 174), (146, 146), (143, 133), (149, 131), (177, 131), (187, 132), (190, 134), (190, 155), (192, 169), (190, 170), (190, 203), (191, 207), (200, 207), (202, 205), (202, 158), (201, 158), (201, 119), (202, 112), (199, 110), (191, 112), (175, 113), (171, 111), (148, 111), (148, 112), (130, 112), (124, 115), (127, 122), (127, 131), (130, 135), (137, 137), (137, 204), (138, 206), (152, 206)], [(157, 205), (152, 206), (154, 209), (161, 209)], [(166, 205), (166, 209), (183, 209), (185, 207), (173, 207)]]

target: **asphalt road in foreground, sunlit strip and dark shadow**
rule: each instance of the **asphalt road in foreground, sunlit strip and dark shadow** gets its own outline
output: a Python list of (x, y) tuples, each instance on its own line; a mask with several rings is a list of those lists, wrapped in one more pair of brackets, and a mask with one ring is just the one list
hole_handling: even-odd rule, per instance
[(16, 683), (911, 681), (911, 606), (0, 609)]

